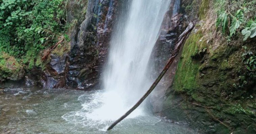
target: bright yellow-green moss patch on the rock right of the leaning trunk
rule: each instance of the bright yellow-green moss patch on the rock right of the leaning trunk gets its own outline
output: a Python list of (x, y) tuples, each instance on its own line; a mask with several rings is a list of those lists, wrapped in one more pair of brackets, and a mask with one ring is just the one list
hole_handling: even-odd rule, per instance
[(193, 91), (197, 87), (196, 79), (199, 74), (199, 63), (195, 62), (191, 57), (198, 54), (199, 50), (205, 47), (203, 34), (199, 30), (195, 34), (191, 34), (182, 50), (181, 59), (178, 63), (177, 73), (174, 80), (175, 91)]

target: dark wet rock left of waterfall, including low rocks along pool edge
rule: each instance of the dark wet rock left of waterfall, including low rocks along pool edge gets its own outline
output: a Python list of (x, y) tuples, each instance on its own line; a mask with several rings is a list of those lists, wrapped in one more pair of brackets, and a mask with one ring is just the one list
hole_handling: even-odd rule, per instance
[(99, 82), (112, 31), (117, 0), (68, 1), (67, 22), (74, 23), (70, 50), (51, 53), (45, 69), (26, 74), (26, 87), (92, 89)]

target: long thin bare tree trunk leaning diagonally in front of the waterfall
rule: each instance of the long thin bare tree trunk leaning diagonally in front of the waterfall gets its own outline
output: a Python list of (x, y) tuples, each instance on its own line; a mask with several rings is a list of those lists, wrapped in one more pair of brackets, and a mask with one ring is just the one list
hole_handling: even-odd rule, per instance
[(173, 63), (175, 57), (177, 57), (179, 53), (179, 49), (183, 42), (185, 41), (187, 35), (190, 33), (190, 31), (194, 28), (194, 23), (190, 22), (186, 30), (179, 36), (178, 43), (176, 44), (176, 47), (174, 49), (174, 52), (171, 55), (171, 58), (168, 60), (167, 64), (164, 66), (162, 72), (160, 75), (157, 77), (155, 82), (151, 85), (149, 90), (144, 94), (142, 98), (139, 99), (139, 101), (129, 110), (127, 111), (123, 116), (121, 116), (119, 119), (117, 119), (107, 130), (112, 129), (114, 126), (116, 126), (121, 120), (123, 120), (125, 117), (127, 117), (133, 110), (135, 110), (147, 97), (148, 95), (154, 90), (156, 85), (159, 83), (159, 81), (162, 79), (164, 74), (167, 72), (167, 70), (170, 68), (171, 64)]

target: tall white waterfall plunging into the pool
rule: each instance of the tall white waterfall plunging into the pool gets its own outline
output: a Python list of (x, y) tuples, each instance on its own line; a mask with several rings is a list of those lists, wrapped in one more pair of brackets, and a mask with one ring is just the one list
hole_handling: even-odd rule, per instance
[[(114, 26), (107, 65), (103, 72), (102, 95), (93, 103), (87, 117), (93, 120), (119, 118), (146, 92), (152, 84), (147, 70), (150, 55), (159, 35), (165, 12), (171, 0), (127, 0)], [(99, 97), (100, 96), (100, 97)], [(89, 104), (83, 105), (87, 109)], [(136, 109), (129, 117), (144, 114)]]

